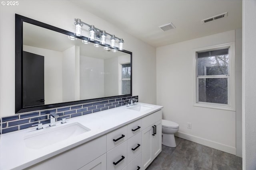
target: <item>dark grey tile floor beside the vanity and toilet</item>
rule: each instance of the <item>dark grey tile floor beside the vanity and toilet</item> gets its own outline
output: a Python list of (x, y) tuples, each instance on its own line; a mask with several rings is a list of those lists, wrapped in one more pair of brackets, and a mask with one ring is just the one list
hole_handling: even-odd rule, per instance
[(162, 152), (146, 170), (242, 170), (242, 158), (179, 137), (176, 148)]

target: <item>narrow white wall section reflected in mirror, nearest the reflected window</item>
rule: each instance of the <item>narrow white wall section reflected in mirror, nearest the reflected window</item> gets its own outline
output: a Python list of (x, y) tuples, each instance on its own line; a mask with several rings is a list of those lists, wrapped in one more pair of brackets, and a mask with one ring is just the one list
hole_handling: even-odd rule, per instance
[(118, 95), (118, 57), (104, 59), (104, 96)]

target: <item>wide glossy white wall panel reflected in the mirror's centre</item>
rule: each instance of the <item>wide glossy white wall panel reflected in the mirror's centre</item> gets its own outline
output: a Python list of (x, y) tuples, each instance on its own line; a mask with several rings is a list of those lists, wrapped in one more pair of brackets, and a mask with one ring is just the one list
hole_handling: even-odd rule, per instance
[(80, 56), (80, 98), (104, 96), (104, 60)]

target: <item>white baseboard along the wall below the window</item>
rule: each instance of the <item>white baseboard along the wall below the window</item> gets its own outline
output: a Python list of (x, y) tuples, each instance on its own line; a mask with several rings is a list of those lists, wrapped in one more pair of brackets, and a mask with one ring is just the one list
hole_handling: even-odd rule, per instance
[(230, 147), (228, 145), (224, 145), (224, 144), (221, 144), (221, 143), (217, 143), (217, 142), (214, 142), (214, 141), (210, 141), (208, 139), (203, 139), (203, 138), (196, 137), (196, 136), (189, 135), (189, 134), (182, 133), (182, 132), (175, 133), (175, 136), (186, 139), (188, 141), (199, 143), (201, 145), (205, 145), (207, 147), (222, 150), (224, 152), (228, 152), (230, 154), (236, 155), (236, 148)]

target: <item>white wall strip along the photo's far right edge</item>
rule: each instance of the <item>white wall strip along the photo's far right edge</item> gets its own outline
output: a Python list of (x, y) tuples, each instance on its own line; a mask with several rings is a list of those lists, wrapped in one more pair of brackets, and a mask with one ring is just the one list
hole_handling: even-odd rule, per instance
[(243, 0), (243, 169), (256, 169), (256, 0)]

